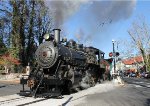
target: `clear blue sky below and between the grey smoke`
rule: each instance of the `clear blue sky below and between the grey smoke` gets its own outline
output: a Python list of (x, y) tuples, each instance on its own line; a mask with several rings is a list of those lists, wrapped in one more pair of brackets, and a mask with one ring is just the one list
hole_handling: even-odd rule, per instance
[[(123, 6), (123, 5), (122, 5)], [(120, 9), (122, 9), (122, 6)], [(87, 10), (84, 9), (86, 6), (81, 6), (81, 9), (72, 15), (64, 24), (67, 38), (68, 39), (75, 39), (77, 38), (75, 35), (80, 33), (80, 29), (82, 29), (82, 35), (80, 35), (81, 41), (80, 43), (85, 44), (85, 40), (88, 39), (91, 43), (89, 45), (94, 46), (102, 51), (105, 52), (105, 57), (108, 58), (108, 53), (112, 51), (112, 39), (119, 41), (120, 39), (129, 39), (129, 35), (127, 30), (131, 27), (132, 22), (137, 20), (139, 16), (144, 16), (146, 21), (149, 22), (150, 20), (150, 1), (136, 1), (136, 5), (134, 9), (131, 10), (132, 13), (128, 17), (122, 17), (117, 21), (109, 19), (109, 17), (104, 18), (101, 20), (92, 20), (92, 15), (86, 15)], [(107, 7), (106, 7), (107, 8)], [(99, 11), (103, 12), (103, 11)], [(82, 16), (84, 14), (84, 17)], [(105, 13), (103, 13), (105, 14)], [(114, 14), (117, 15), (117, 14)], [(90, 20), (91, 24), (95, 26), (90, 26), (90, 24), (83, 21)], [(112, 22), (110, 22), (112, 20)], [(101, 25), (105, 23), (104, 25)], [(96, 32), (90, 32), (91, 27)], [(90, 36), (89, 36), (90, 34)], [(87, 38), (86, 38), (87, 37)]]

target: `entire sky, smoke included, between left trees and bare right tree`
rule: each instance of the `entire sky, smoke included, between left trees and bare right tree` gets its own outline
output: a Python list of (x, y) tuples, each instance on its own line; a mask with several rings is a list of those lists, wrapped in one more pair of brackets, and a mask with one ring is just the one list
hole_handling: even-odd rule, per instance
[[(150, 21), (148, 0), (50, 1), (46, 5), (55, 11), (54, 27), (62, 29), (62, 36), (96, 47), (105, 52), (106, 58), (112, 52), (112, 40), (129, 40), (127, 30), (138, 17)], [(117, 43), (115, 47), (117, 51)]]

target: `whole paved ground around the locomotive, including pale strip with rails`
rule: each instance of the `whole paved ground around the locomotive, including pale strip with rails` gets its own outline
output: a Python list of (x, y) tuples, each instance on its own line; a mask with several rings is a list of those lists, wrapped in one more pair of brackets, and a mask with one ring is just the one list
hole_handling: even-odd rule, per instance
[[(124, 81), (124, 86), (106, 82), (75, 94), (64, 95), (62, 99), (50, 98), (48, 100), (32, 97), (20, 98), (19, 95), (13, 94), (19, 93), (21, 85), (0, 82), (0, 98), (6, 100), (9, 95), (10, 98), (17, 98), (20, 103), (16, 100), (11, 101), (14, 106), (15, 104), (30, 106), (47, 104), (52, 106), (150, 106), (150, 79), (124, 78)], [(12, 106), (11, 102), (9, 104)], [(7, 106), (7, 103), (1, 102), (1, 104)]]

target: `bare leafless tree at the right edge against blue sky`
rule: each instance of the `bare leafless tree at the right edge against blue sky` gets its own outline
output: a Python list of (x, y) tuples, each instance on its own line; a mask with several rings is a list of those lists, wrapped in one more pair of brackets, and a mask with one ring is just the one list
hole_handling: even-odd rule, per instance
[(132, 43), (143, 57), (146, 71), (150, 71), (150, 28), (148, 24), (140, 19), (132, 24), (128, 33)]

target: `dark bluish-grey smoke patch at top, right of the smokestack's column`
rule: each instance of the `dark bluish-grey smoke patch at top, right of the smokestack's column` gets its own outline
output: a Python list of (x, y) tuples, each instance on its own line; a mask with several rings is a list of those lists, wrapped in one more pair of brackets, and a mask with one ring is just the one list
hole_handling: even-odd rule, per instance
[(109, 18), (113, 21), (119, 21), (129, 18), (135, 5), (136, 0), (93, 1), (87, 10), (96, 20)]

